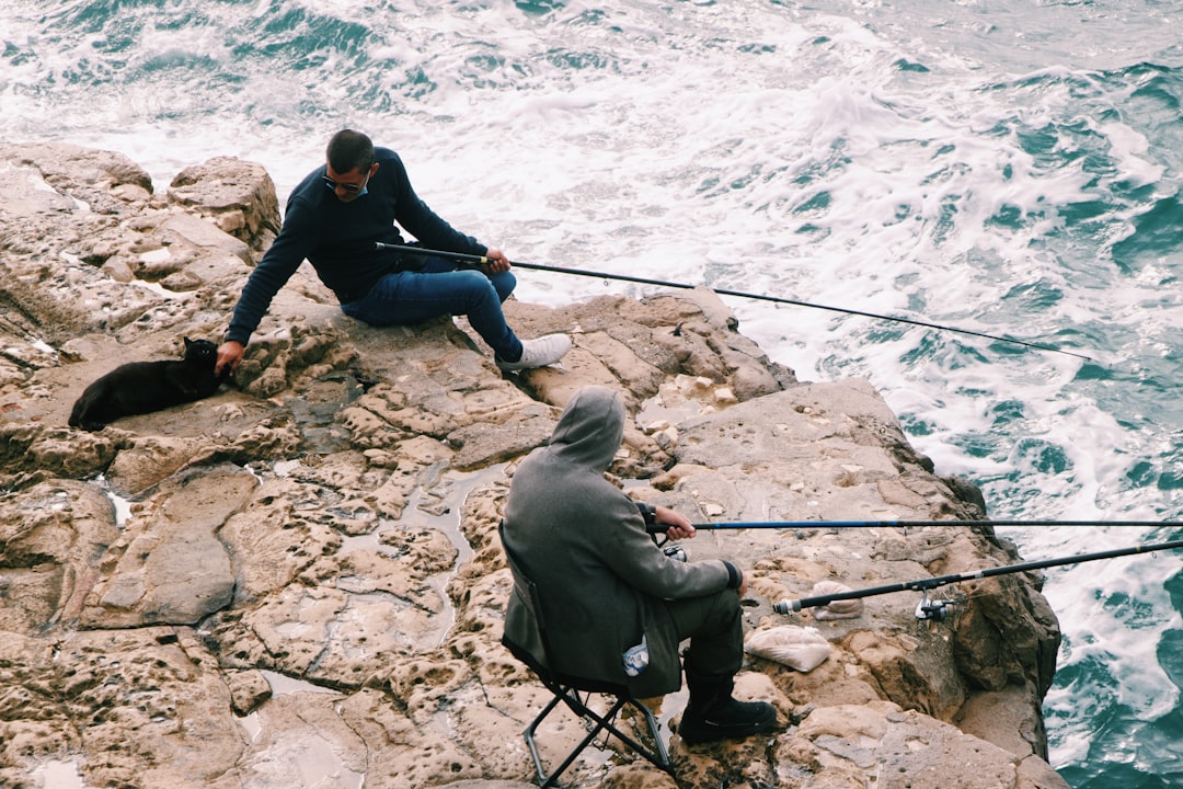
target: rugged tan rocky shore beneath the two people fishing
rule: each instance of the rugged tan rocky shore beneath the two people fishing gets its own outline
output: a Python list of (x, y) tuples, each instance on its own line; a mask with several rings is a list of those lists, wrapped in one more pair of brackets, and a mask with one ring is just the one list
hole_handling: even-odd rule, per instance
[[(519, 787), (542, 686), (500, 646), (497, 523), (515, 463), (578, 387), (635, 425), (613, 473), (692, 520), (984, 517), (862, 381), (769, 362), (710, 291), (562, 309), (511, 300), (561, 368), (503, 375), (463, 321), (371, 329), (302, 270), (208, 400), (66, 427), (116, 364), (219, 341), (279, 224), (257, 164), (155, 194), (124, 156), (0, 145), (0, 784)], [(959, 584), (942, 622), (907, 595), (854, 619), (771, 603), (1016, 560), (989, 528), (702, 532), (751, 576), (750, 630), (816, 628), (808, 673), (751, 657), (738, 692), (781, 730), (677, 778), (589, 750), (578, 787), (1059, 789), (1040, 701), (1059, 628), (1039, 577)], [(576, 730), (548, 732), (560, 744)]]

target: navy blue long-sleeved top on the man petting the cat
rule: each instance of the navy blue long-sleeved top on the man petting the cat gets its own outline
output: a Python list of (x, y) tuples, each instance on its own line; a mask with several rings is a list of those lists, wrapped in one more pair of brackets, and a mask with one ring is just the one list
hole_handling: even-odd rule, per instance
[[(271, 299), (305, 259), (342, 304), (364, 296), (379, 278), (400, 265), (397, 253), (374, 248), (375, 241), (406, 244), (395, 222), (429, 248), (477, 256), (489, 251), (419, 199), (396, 153), (375, 148), (374, 160), (379, 168), (366, 194), (350, 202), (342, 202), (325, 186), (323, 164), (292, 190), (279, 235), (251, 272), (226, 339), (246, 344)], [(408, 259), (406, 267), (418, 265)]]

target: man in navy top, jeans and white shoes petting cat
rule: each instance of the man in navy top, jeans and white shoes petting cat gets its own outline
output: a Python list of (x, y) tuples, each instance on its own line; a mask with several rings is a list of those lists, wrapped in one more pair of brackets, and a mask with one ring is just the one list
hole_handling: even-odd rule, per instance
[[(241, 363), (271, 299), (305, 259), (336, 293), (341, 310), (370, 325), (466, 315), (505, 370), (552, 364), (570, 349), (567, 335), (517, 338), (502, 313), (502, 302), (517, 284), (509, 259), (455, 231), (428, 208), (411, 187), (396, 153), (375, 148), (366, 135), (344, 129), (329, 141), (325, 159), (292, 190), (279, 235), (243, 289), (218, 349), (219, 373)], [(375, 246), (405, 245), (399, 227), (428, 248), (480, 256), (489, 263), (478, 271)]]

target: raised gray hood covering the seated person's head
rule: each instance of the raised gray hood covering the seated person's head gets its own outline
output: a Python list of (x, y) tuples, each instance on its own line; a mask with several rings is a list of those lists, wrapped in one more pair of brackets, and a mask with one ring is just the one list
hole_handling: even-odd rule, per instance
[(605, 472), (625, 438), (625, 403), (606, 387), (583, 387), (570, 399), (547, 441), (550, 452)]

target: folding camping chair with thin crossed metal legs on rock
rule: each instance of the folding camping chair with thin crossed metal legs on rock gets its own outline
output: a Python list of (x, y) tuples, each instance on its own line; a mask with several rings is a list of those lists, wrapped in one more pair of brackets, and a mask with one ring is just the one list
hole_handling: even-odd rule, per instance
[[(505, 556), (509, 558), (510, 571), (513, 574), (513, 594), (518, 595), (521, 601), (530, 609), (530, 613), (534, 614), (534, 620), (538, 623), (538, 635), (542, 639), (542, 648), (545, 655), (547, 665), (538, 662), (538, 660), (536, 660), (528, 649), (515, 644), (504, 635), (502, 636), (502, 644), (505, 645), (515, 658), (524, 662), (530, 671), (532, 671), (538, 679), (542, 680), (542, 684), (545, 685), (547, 688), (554, 694), (554, 698), (551, 698), (547, 706), (542, 709), (538, 717), (536, 717), (530, 725), (525, 727), (525, 731), (522, 732), (522, 736), (525, 738), (525, 744), (530, 749), (530, 756), (534, 757), (534, 765), (538, 774), (538, 785), (542, 789), (555, 785), (558, 781), (558, 776), (562, 775), (562, 772), (569, 768), (573, 762), (575, 762), (578, 755), (583, 752), (583, 749), (592, 744), (592, 741), (594, 741), (601, 731), (606, 732), (606, 737), (609, 735), (615, 736), (639, 756), (673, 775), (673, 765), (670, 762), (670, 754), (666, 751), (665, 743), (661, 739), (659, 724), (653, 717), (653, 712), (639, 699), (633, 697), (627, 685), (570, 677), (549, 668), (549, 666), (554, 665), (554, 660), (551, 658), (550, 636), (547, 630), (545, 620), (542, 615), (542, 597), (538, 593), (538, 587), (525, 575), (525, 573), (522, 571), (522, 565), (518, 564), (515, 556), (510, 552), (509, 547), (505, 545), (504, 528), (502, 529), (502, 545), (505, 548)], [(596, 694), (612, 697), (614, 699), (607, 712), (601, 713), (588, 706), (592, 697)], [(542, 722), (545, 720), (547, 716), (549, 716), (560, 703), (565, 704), (571, 712), (580, 717), (584, 727), (587, 727), (588, 733), (565, 756), (565, 758), (563, 758), (562, 763), (555, 768), (554, 771), (548, 774), (542, 763), (542, 756), (538, 752), (536, 736), (538, 726), (542, 725)], [(616, 725), (616, 717), (625, 707), (632, 707), (633, 710), (640, 712), (645, 718), (646, 727), (648, 729), (646, 736), (653, 742), (652, 746), (641, 744), (636, 737), (621, 731)]]

